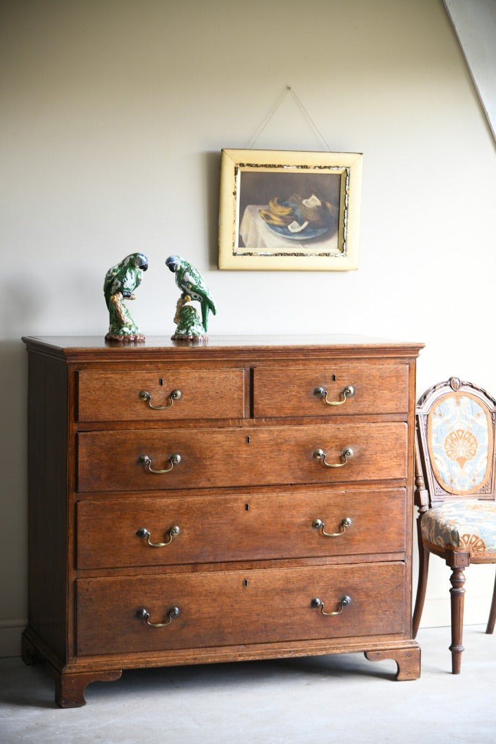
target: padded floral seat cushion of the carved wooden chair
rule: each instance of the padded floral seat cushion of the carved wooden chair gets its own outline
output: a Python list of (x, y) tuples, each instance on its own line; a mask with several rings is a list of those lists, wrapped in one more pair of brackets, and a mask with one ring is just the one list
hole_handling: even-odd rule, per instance
[(446, 501), (425, 512), (420, 525), (422, 538), (431, 545), (468, 551), (473, 558), (494, 554), (496, 559), (494, 501)]

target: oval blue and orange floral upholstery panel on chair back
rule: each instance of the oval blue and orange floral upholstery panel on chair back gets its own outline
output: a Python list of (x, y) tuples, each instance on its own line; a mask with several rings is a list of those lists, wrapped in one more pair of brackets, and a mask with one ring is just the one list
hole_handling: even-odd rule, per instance
[(439, 398), (428, 416), (428, 450), (439, 485), (460, 496), (483, 489), (491, 471), (492, 422), (470, 393)]

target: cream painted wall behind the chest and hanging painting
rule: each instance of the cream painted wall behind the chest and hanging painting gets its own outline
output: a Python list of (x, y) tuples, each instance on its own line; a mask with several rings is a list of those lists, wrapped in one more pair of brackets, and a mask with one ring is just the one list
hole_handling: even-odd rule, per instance
[[(103, 275), (132, 251), (150, 262), (133, 315), (170, 333), (177, 251), (216, 298), (212, 334), (425, 341), (419, 392), (452, 374), (496, 391), (496, 158), (442, 0), (4, 0), (0, 13), (8, 654), (27, 615), (20, 336), (103, 335)], [(333, 150), (364, 153), (357, 272), (216, 270), (219, 152), (247, 147), (288, 84)], [(322, 144), (287, 96), (257, 147)], [(448, 624), (448, 569), (433, 564), (423, 623)], [(485, 621), (491, 583), (468, 571), (467, 622)]]

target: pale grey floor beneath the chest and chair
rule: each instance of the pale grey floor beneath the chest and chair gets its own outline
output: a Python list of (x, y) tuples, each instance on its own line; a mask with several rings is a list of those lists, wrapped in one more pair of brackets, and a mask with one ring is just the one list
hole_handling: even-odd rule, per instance
[(44, 664), (0, 659), (0, 742), (36, 744), (453, 744), (496, 742), (496, 637), (421, 629), (422, 676), (362, 654), (130, 670), (94, 682), (84, 708), (54, 705)]

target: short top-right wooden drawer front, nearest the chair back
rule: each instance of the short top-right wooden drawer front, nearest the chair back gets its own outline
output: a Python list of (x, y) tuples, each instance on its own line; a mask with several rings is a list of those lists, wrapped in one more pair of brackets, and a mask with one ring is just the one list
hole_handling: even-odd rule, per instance
[[(351, 385), (354, 392), (344, 396)], [(315, 395), (327, 391), (327, 400)], [(342, 403), (342, 401), (344, 401)], [(375, 365), (372, 362), (306, 367), (255, 368), (254, 414), (271, 416), (329, 416), (347, 414), (405, 413), (408, 411), (408, 365)]]

